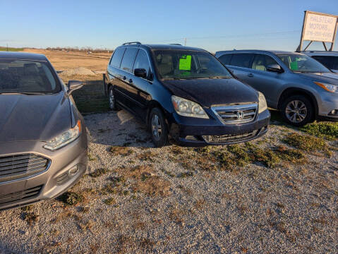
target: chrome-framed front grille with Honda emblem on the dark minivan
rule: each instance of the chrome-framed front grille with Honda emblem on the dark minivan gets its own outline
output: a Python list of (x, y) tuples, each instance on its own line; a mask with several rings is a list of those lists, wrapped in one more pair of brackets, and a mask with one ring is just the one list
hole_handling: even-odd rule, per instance
[(226, 105), (211, 109), (224, 124), (248, 123), (255, 119), (257, 104)]

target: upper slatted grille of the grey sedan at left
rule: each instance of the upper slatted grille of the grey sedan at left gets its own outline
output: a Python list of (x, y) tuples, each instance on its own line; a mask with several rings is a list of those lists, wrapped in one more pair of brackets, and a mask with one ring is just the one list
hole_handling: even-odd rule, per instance
[(0, 157), (0, 183), (40, 174), (48, 166), (49, 159), (39, 155), (25, 154)]

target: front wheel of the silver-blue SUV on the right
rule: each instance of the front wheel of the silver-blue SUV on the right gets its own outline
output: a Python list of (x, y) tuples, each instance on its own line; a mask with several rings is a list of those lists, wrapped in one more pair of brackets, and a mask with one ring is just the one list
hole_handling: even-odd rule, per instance
[(301, 127), (313, 121), (314, 108), (303, 95), (293, 95), (284, 100), (281, 106), (282, 118), (292, 126)]

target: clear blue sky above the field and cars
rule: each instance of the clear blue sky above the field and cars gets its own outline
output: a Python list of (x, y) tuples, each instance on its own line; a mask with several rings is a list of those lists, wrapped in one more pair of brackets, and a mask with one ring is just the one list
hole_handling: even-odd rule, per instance
[(0, 45), (114, 49), (130, 41), (183, 44), (186, 37), (188, 46), (210, 52), (294, 51), (306, 10), (338, 15), (338, 0), (0, 0)]

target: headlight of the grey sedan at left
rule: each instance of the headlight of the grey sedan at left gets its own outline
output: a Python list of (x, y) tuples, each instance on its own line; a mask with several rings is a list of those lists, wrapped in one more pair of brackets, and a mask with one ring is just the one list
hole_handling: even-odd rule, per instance
[(56, 136), (52, 140), (49, 140), (46, 145), (44, 145), (44, 148), (55, 151), (58, 150), (61, 147), (64, 147), (65, 145), (68, 145), (69, 143), (73, 142), (78, 138), (81, 134), (81, 121), (78, 120), (78, 123), (76, 123), (76, 126), (74, 128), (70, 128), (68, 131), (65, 131), (61, 135)]

